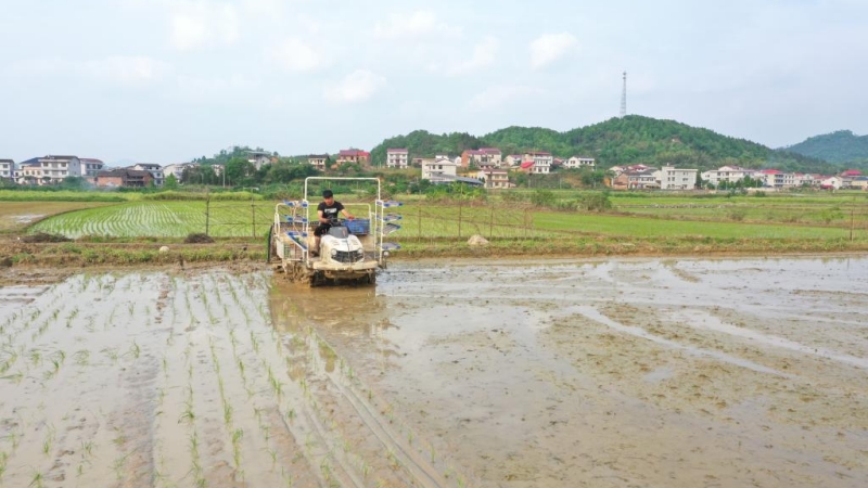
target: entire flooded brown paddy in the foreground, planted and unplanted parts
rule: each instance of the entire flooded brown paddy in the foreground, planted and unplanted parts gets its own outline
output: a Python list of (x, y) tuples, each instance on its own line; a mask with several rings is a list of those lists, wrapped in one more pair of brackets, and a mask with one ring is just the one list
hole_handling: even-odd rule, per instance
[(868, 258), (0, 288), (0, 487), (861, 487)]

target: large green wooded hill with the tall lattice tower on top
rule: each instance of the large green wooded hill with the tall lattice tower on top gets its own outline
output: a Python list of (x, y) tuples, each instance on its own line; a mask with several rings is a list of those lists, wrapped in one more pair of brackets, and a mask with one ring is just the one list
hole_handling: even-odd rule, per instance
[(371, 151), (374, 163), (385, 160), (386, 149), (407, 147), (411, 157), (458, 155), (467, 149), (499, 147), (503, 155), (547, 151), (556, 157), (589, 156), (598, 167), (623, 164), (715, 169), (723, 165), (776, 168), (784, 171), (833, 174), (839, 165), (789, 151), (775, 151), (755, 142), (718, 134), (674, 120), (638, 115), (558, 132), (539, 127), (508, 127), (483, 137), (465, 132), (433, 134), (416, 130), (386, 139)]

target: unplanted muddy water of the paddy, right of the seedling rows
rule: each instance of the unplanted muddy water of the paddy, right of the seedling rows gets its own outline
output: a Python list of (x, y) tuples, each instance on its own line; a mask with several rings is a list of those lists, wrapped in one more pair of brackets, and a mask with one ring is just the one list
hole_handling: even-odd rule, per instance
[(866, 258), (400, 262), (272, 304), (454, 486), (868, 486)]

